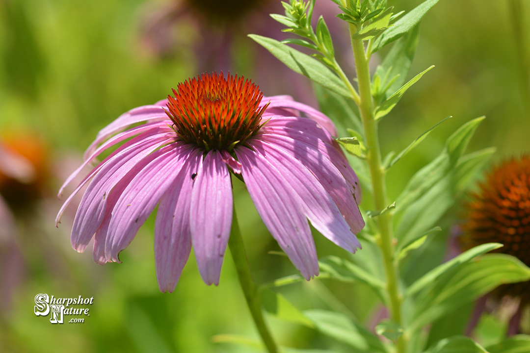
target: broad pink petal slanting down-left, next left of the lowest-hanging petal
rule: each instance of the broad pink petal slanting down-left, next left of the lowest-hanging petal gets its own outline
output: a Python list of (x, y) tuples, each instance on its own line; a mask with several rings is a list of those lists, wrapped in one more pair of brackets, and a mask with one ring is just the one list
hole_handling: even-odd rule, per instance
[(105, 257), (108, 261), (119, 261), (119, 252), (129, 245), (153, 212), (192, 148), (189, 144), (175, 142), (156, 150), (136, 164), (137, 172), (131, 170), (133, 173), (129, 172), (118, 182), (127, 186), (111, 211), (105, 241)]

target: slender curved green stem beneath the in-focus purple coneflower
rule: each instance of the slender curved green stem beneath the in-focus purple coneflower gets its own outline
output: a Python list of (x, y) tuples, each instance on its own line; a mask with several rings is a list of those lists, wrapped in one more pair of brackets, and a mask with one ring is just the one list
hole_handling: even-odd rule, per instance
[(241, 231), (237, 223), (237, 216), (233, 213), (232, 220), (232, 232), (230, 234), (230, 239), (228, 240), (228, 247), (234, 259), (235, 267), (237, 270), (237, 277), (239, 278), (239, 283), (245, 294), (246, 303), (249, 305), (250, 313), (252, 314), (252, 319), (256, 324), (256, 328), (260, 333), (261, 339), (269, 353), (278, 353), (278, 346), (272, 338), (270, 331), (267, 327), (267, 324), (263, 320), (263, 313), (261, 312), (261, 299), (259, 296), (258, 286), (254, 283), (252, 279), (252, 274), (250, 272), (249, 260), (246, 258), (245, 246), (243, 245), (243, 238), (241, 237)]

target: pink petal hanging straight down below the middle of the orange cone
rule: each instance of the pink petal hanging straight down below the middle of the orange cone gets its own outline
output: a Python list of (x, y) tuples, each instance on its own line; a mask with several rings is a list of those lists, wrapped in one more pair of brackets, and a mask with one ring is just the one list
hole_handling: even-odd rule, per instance
[(191, 236), (202, 280), (219, 284), (232, 225), (232, 184), (223, 157), (208, 152), (195, 176), (191, 194)]

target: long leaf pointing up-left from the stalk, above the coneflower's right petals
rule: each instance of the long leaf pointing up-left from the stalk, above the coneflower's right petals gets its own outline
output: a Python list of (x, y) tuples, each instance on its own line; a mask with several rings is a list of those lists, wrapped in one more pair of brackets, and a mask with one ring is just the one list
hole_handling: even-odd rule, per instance
[(256, 34), (249, 34), (249, 37), (261, 44), (265, 49), (269, 50), (272, 55), (277, 57), (296, 73), (312, 79), (317, 84), (329, 88), (343, 97), (353, 99), (351, 93), (341, 79), (333, 74), (320, 61), (290, 48), (285, 44), (281, 44), (272, 38), (262, 37), (261, 35)]

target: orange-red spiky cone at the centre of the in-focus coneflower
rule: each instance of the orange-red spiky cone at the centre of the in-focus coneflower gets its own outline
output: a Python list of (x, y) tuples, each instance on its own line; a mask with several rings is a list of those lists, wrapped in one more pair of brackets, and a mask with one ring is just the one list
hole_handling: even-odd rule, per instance
[(231, 151), (258, 132), (263, 94), (244, 77), (202, 74), (180, 83), (167, 96), (167, 116), (188, 143), (209, 150)]

